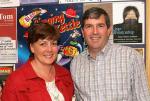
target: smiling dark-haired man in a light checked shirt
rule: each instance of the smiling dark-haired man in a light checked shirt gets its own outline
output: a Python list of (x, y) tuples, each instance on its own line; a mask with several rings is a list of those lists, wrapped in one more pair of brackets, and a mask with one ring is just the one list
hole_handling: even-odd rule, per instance
[(82, 33), (88, 45), (71, 63), (77, 101), (150, 101), (142, 56), (111, 44), (110, 19), (97, 7), (85, 11)]

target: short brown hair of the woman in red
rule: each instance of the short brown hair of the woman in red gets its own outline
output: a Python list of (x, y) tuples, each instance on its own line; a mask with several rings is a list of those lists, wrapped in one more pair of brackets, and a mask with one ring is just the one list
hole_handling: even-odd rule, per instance
[[(59, 30), (49, 23), (35, 23), (28, 29), (27, 43), (30, 49), (30, 44), (35, 43), (39, 39), (48, 38), (50, 40), (58, 41), (60, 38)], [(30, 56), (33, 56), (31, 53)]]

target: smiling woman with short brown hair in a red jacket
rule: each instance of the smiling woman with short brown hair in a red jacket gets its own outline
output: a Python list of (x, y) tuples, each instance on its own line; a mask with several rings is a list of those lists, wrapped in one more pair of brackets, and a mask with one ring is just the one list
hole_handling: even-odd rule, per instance
[(7, 79), (2, 101), (71, 101), (74, 93), (70, 72), (55, 63), (60, 34), (48, 23), (28, 31), (29, 60)]

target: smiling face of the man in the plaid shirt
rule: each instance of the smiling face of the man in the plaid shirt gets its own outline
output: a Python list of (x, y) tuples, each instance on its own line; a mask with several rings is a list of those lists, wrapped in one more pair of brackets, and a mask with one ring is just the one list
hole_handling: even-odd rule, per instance
[(89, 50), (101, 50), (104, 48), (109, 39), (110, 32), (111, 30), (107, 28), (104, 15), (98, 19), (87, 19), (84, 21), (82, 33)]

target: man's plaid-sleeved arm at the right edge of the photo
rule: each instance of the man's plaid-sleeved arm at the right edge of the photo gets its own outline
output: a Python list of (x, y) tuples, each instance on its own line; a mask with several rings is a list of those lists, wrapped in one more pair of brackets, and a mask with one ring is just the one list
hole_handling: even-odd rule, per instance
[(143, 57), (135, 52), (133, 55), (133, 101), (150, 101), (150, 92)]

